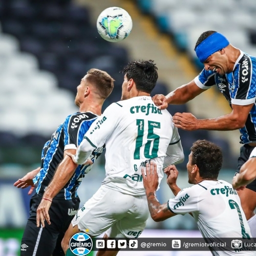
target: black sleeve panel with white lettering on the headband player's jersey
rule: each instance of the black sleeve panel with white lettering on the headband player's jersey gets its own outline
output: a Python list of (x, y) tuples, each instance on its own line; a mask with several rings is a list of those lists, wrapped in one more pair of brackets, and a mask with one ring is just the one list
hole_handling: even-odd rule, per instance
[(238, 89), (235, 99), (245, 100), (252, 82), (252, 61), (247, 55), (244, 55), (239, 62), (238, 71)]

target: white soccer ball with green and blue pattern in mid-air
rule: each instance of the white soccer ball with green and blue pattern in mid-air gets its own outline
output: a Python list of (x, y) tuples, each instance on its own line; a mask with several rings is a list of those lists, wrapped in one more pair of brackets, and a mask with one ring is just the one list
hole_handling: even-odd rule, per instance
[(119, 7), (109, 7), (98, 17), (97, 29), (108, 42), (119, 42), (128, 37), (132, 20), (128, 12)]

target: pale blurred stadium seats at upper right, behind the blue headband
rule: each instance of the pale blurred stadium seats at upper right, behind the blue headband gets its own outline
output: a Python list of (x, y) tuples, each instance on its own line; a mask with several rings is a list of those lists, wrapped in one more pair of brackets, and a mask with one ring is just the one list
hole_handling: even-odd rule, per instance
[(140, 9), (152, 15), (160, 31), (171, 34), (180, 50), (187, 51), (198, 69), (194, 45), (200, 34), (216, 30), (225, 34), (235, 47), (255, 54), (256, 29), (254, 0), (137, 0)]

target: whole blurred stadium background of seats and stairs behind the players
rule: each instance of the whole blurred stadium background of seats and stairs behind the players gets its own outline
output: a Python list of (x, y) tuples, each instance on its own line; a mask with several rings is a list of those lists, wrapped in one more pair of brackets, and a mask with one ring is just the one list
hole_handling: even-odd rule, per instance
[[(120, 43), (104, 41), (96, 30), (98, 15), (110, 6), (126, 9), (133, 20), (131, 34)], [(89, 68), (106, 70), (116, 80), (104, 108), (120, 100), (120, 71), (130, 60), (155, 60), (159, 80), (152, 96), (166, 95), (202, 69), (193, 48), (206, 30), (217, 30), (235, 47), (256, 55), (255, 16), (255, 0), (0, 0), (0, 256), (19, 255), (28, 217), (28, 191), (14, 188), (13, 183), (39, 166), (46, 140), (66, 115), (77, 111), (76, 87)], [(230, 109), (215, 88), (189, 104), (170, 106), (169, 111), (213, 118)], [(238, 131), (179, 132), (185, 152), (185, 161), (178, 166), (182, 188), (188, 187), (187, 157), (197, 139), (213, 141), (223, 149), (220, 178), (232, 180), (240, 147)], [(81, 203), (100, 187), (104, 176), (103, 156), (79, 188)], [(161, 202), (172, 197), (165, 180), (158, 197)], [(191, 216), (160, 223), (149, 219), (147, 229), (145, 234), (160, 237), (198, 235)]]

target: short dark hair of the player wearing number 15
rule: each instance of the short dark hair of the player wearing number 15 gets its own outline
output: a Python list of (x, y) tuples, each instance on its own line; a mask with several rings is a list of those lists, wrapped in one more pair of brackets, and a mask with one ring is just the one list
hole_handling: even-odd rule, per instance
[(151, 93), (158, 79), (157, 67), (154, 61), (132, 61), (124, 68), (123, 74), (133, 79), (138, 91)]

